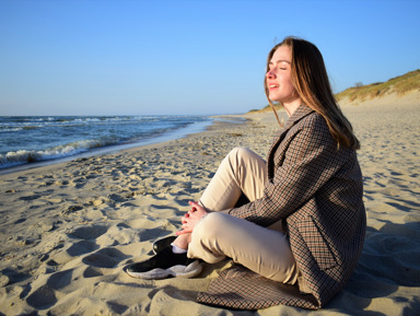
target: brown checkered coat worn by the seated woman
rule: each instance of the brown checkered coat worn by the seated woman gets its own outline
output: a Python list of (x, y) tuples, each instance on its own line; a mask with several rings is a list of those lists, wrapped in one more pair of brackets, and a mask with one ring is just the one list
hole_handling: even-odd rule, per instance
[(267, 157), (264, 197), (230, 214), (262, 226), (285, 223), (300, 274), (287, 285), (234, 266), (198, 301), (242, 309), (278, 304), (320, 308), (350, 278), (361, 254), (366, 218), (355, 151), (337, 147), (325, 119), (300, 106)]

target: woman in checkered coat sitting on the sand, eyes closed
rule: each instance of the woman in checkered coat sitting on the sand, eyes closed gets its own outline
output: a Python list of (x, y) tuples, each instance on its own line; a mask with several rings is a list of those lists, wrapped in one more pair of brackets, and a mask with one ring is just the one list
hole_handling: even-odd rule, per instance
[[(287, 37), (275, 46), (265, 90), (270, 105), (279, 102), (289, 115), (267, 163), (249, 150), (233, 150), (200, 201), (190, 202), (173, 246), (130, 266), (130, 276), (194, 277), (200, 262), (188, 258), (213, 264), (230, 257), (247, 268), (243, 271), (256, 273), (253, 285), (267, 289), (259, 296), (275, 294), (248, 295), (241, 284), (253, 273), (245, 272), (224, 274), (199, 301), (248, 309), (273, 304), (319, 308), (345, 285), (366, 225), (359, 141), (313, 44)], [(248, 202), (238, 207), (241, 196)]]

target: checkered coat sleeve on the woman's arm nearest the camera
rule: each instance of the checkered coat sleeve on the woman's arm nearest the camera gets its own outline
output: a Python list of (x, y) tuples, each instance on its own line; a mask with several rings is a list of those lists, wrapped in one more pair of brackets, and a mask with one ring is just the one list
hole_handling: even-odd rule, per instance
[[(343, 149), (338, 150), (319, 115), (305, 118), (277, 150), (284, 150), (284, 157), (268, 162), (273, 176), (268, 180), (262, 198), (231, 209), (231, 215), (261, 226), (285, 219), (311, 199), (345, 163)], [(272, 153), (272, 156), (279, 154)]]

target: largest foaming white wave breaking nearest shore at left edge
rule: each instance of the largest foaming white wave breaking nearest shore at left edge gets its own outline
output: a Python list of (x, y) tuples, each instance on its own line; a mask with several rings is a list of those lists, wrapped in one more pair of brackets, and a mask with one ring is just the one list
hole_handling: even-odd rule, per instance
[(72, 156), (107, 144), (109, 143), (104, 140), (82, 140), (40, 151), (19, 150), (8, 152), (7, 154), (0, 154), (0, 168)]

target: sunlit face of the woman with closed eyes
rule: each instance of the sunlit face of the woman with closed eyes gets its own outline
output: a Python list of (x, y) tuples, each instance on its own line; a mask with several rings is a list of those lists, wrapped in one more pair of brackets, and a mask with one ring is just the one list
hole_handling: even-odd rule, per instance
[(292, 52), (289, 46), (280, 46), (269, 61), (266, 73), (268, 97), (275, 102), (292, 103), (300, 100), (292, 85), (291, 73)]

